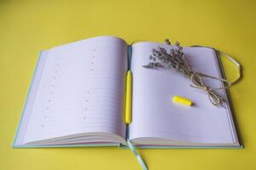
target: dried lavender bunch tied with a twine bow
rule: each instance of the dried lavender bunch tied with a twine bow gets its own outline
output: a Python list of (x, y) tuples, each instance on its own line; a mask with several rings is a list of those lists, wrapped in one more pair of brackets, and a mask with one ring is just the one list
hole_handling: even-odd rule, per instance
[[(169, 42), (169, 40), (166, 40), (166, 44), (171, 45), (171, 42)], [(211, 77), (192, 71), (187, 59), (183, 54), (183, 47), (180, 46), (179, 42), (175, 42), (174, 46), (175, 47), (171, 49), (170, 53), (167, 53), (166, 48), (153, 48), (152, 54), (149, 56), (150, 62), (148, 63), (148, 65), (143, 65), (143, 67), (150, 69), (174, 69), (175, 71), (191, 79), (191, 82), (194, 84), (190, 85), (192, 88), (200, 88), (205, 90), (213, 105), (222, 105), (222, 103), (225, 101), (224, 98), (218, 95), (214, 89), (209, 88), (206, 84), (204, 84), (201, 77), (213, 78), (221, 82), (227, 81), (224, 79), (219, 79), (217, 77)]]

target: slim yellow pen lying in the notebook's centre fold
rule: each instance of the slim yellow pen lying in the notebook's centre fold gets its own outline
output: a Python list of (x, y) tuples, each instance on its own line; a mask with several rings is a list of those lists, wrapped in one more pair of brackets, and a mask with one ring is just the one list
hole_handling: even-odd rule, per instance
[(125, 88), (125, 123), (131, 123), (131, 93), (132, 93), (132, 75), (131, 71), (126, 73), (126, 88)]

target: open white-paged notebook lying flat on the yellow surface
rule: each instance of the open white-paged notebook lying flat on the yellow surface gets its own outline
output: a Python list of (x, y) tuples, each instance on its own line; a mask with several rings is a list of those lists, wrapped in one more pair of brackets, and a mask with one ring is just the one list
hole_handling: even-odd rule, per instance
[[(228, 101), (225, 108), (216, 107), (177, 72), (143, 68), (157, 47), (172, 48), (94, 37), (41, 52), (14, 147), (124, 146), (127, 139), (151, 148), (241, 147), (228, 91), (219, 92)], [(223, 77), (212, 48), (186, 47), (183, 52), (195, 71)], [(132, 122), (126, 126), (125, 74), (130, 66)], [(212, 88), (223, 86), (206, 81)], [(177, 105), (174, 95), (195, 105)]]

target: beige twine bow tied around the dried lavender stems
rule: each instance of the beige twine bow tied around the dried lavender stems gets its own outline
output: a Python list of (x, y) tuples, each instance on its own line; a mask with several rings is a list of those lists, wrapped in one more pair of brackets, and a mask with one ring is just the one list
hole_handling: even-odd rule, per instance
[[(210, 88), (202, 81), (202, 77), (212, 78), (212, 79), (218, 80), (219, 82), (225, 82), (224, 87), (222, 87), (222, 88)], [(230, 88), (230, 82), (229, 81), (227, 81), (225, 79), (222, 79), (222, 78), (211, 77), (211, 76), (208, 76), (208, 75), (205, 75), (205, 74), (201, 74), (199, 72), (194, 72), (191, 75), (190, 78), (191, 78), (191, 82), (193, 83), (193, 84), (190, 84), (190, 86), (192, 88), (199, 88), (199, 89), (204, 90), (208, 94), (208, 97), (209, 97), (212, 105), (223, 106), (222, 104), (225, 101), (225, 99), (221, 95), (219, 95), (216, 92), (216, 90)]]

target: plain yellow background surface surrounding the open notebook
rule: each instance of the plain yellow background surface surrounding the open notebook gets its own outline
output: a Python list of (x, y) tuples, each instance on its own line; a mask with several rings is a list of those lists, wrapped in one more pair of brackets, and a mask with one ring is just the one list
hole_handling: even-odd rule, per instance
[[(127, 42), (169, 37), (235, 56), (244, 77), (230, 91), (246, 148), (140, 153), (150, 170), (256, 169), (255, 2), (0, 0), (0, 169), (140, 169), (130, 150), (11, 148), (39, 50), (101, 35)], [(225, 68), (236, 76), (233, 66)]]

